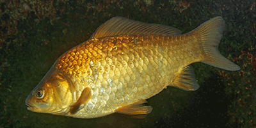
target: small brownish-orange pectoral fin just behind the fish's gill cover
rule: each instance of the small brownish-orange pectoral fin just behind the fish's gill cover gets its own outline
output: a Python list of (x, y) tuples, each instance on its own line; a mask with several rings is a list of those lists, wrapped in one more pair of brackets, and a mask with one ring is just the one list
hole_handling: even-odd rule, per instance
[(92, 92), (90, 88), (84, 88), (83, 92), (81, 93), (81, 96), (77, 100), (77, 102), (70, 107), (69, 112), (71, 114), (76, 113), (80, 109), (84, 107), (84, 105), (91, 99), (92, 97)]

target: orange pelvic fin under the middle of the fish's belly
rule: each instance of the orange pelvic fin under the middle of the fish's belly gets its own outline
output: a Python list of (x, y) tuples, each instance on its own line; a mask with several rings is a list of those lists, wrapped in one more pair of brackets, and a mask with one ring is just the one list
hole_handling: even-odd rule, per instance
[(116, 109), (116, 113), (122, 113), (126, 115), (146, 115), (152, 111), (151, 106), (143, 106), (142, 104), (147, 102), (146, 100), (139, 100), (134, 104), (124, 106), (122, 108)]

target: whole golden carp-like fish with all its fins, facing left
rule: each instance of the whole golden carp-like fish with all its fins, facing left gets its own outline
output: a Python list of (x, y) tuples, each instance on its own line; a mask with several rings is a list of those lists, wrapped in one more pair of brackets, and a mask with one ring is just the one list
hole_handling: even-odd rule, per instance
[(147, 99), (167, 86), (199, 88), (191, 63), (240, 67), (218, 50), (225, 21), (207, 20), (182, 34), (161, 24), (113, 17), (55, 61), (26, 99), (29, 111), (74, 118), (147, 115)]

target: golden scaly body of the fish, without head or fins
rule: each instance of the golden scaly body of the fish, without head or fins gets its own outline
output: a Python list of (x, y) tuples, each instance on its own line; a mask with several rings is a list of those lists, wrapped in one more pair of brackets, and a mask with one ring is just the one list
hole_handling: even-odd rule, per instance
[[(193, 37), (186, 38), (191, 42)], [(74, 83), (74, 100), (85, 87), (92, 89), (92, 99), (71, 116), (108, 115), (161, 92), (173, 82), (179, 69), (198, 59), (188, 50), (198, 51), (200, 46), (191, 49), (189, 45), (195, 42), (186, 40), (182, 36), (109, 36), (88, 40), (67, 51), (57, 60), (56, 68)]]

